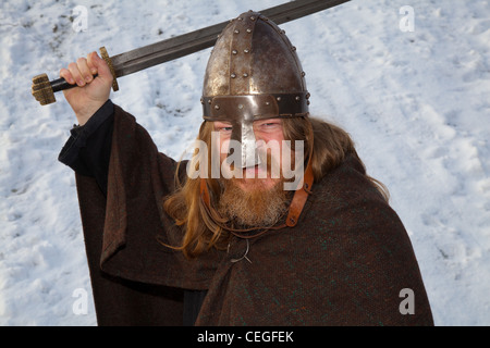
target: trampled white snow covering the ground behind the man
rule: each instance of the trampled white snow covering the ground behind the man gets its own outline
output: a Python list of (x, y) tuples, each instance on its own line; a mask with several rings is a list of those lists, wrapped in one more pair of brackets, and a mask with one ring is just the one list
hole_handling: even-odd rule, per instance
[[(57, 161), (75, 119), (61, 94), (40, 107), (30, 78), (283, 1), (1, 2), (0, 325), (96, 325), (74, 175)], [(344, 127), (390, 189), (436, 324), (489, 325), (489, 1), (354, 0), (281, 27), (311, 112)], [(120, 78), (111, 96), (175, 159), (200, 124), (209, 52)]]

